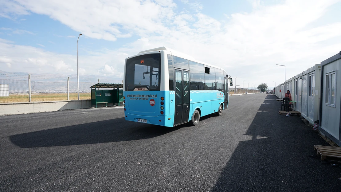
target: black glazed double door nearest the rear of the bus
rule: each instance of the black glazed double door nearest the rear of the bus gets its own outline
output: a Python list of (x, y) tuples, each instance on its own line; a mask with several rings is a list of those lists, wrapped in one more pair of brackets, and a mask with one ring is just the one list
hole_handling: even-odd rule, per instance
[(189, 72), (175, 70), (175, 115), (174, 126), (188, 122), (190, 111)]

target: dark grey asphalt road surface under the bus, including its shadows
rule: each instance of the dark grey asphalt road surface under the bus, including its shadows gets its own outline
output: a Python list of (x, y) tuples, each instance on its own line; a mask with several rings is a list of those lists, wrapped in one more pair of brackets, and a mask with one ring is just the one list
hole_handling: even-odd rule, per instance
[[(276, 96), (230, 97), (220, 117), (165, 128), (122, 108), (0, 117), (0, 191), (340, 191), (328, 145)], [(138, 164), (140, 163), (140, 164)]]

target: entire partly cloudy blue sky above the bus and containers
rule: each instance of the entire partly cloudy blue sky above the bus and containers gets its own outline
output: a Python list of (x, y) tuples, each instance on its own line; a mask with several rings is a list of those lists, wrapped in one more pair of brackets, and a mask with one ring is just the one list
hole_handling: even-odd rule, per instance
[(341, 0), (1, 0), (0, 70), (123, 79), (166, 46), (269, 88), (341, 51)]

